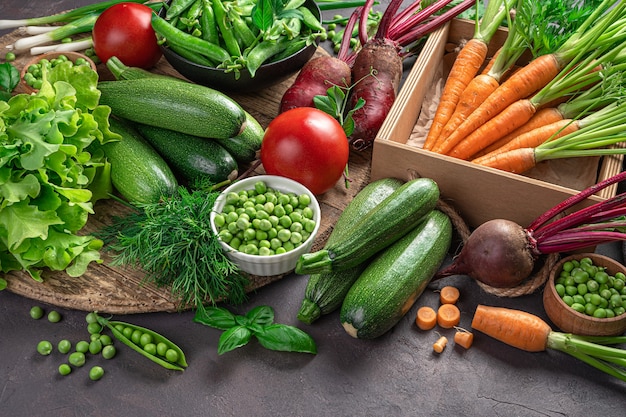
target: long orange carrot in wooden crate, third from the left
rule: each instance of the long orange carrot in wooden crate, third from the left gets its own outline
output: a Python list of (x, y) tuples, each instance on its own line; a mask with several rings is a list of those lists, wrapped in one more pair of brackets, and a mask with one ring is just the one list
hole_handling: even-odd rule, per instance
[(542, 55), (533, 59), (503, 82), (450, 136), (440, 142), (432, 151), (448, 154), (463, 139), (508, 106), (529, 97), (546, 86), (557, 76), (561, 70), (561, 65), (562, 63), (559, 62), (556, 54)]

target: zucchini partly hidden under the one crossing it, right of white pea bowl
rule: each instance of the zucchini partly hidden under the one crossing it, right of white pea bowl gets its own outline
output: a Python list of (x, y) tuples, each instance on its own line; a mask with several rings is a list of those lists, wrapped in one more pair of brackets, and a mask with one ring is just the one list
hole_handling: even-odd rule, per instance
[[(396, 178), (383, 178), (367, 184), (341, 213), (325, 246), (332, 245), (346, 230), (349, 230), (353, 224), (367, 215), (402, 184), (403, 181)], [(338, 309), (348, 290), (366, 266), (367, 261), (344, 271), (311, 275), (304, 292), (302, 306), (298, 311), (298, 320), (311, 324), (321, 315)]]

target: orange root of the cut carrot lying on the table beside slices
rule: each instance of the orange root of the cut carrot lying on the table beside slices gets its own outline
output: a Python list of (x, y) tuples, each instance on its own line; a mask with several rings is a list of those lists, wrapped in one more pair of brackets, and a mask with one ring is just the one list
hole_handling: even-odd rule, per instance
[(528, 352), (547, 349), (552, 329), (540, 317), (525, 311), (478, 305), (472, 328)]

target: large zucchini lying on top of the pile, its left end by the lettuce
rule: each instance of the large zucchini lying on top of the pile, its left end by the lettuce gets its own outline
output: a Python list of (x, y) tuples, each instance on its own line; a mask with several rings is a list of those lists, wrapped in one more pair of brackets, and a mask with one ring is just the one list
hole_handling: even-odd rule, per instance
[(244, 110), (224, 93), (199, 84), (167, 78), (101, 81), (100, 104), (136, 123), (205, 138), (239, 135)]

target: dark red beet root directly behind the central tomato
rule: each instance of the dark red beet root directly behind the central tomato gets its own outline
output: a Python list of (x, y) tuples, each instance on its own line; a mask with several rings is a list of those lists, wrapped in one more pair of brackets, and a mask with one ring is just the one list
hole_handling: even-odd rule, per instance
[(307, 62), (293, 85), (285, 91), (280, 102), (280, 113), (296, 107), (315, 107), (313, 97), (326, 95), (333, 85), (349, 87), (350, 66), (343, 60), (321, 56)]

